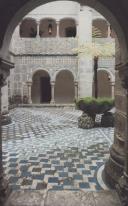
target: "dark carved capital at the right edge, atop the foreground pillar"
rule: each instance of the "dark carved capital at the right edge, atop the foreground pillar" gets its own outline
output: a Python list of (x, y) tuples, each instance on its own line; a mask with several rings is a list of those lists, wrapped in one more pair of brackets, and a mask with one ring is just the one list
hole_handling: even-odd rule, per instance
[(124, 89), (128, 89), (128, 62), (118, 65), (119, 77)]

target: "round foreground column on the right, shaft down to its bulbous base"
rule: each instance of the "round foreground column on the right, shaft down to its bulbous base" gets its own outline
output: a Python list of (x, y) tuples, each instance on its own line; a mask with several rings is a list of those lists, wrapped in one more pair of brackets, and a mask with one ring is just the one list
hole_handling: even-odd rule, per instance
[(116, 66), (115, 72), (115, 133), (114, 143), (110, 148), (110, 158), (105, 164), (104, 174), (106, 181), (115, 187), (119, 178), (123, 174), (124, 169), (124, 147), (126, 132), (126, 91), (122, 87), (122, 77), (120, 74), (123, 73), (123, 65)]

